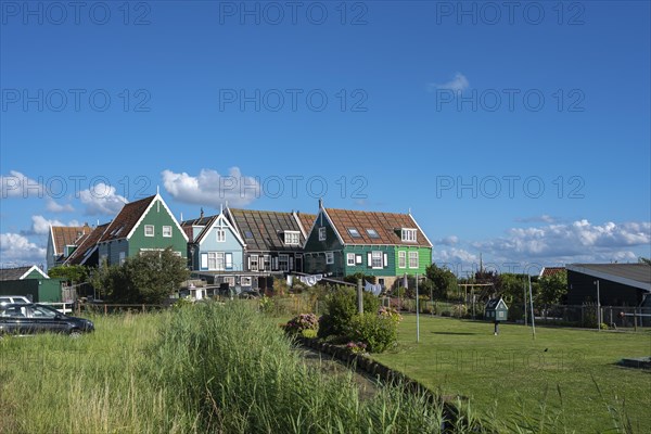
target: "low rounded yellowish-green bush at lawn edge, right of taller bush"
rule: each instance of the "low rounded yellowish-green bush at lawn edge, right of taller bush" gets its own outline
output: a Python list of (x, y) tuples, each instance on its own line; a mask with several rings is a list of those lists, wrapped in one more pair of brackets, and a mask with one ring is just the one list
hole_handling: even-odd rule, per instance
[(398, 322), (378, 314), (363, 312), (350, 319), (349, 339), (363, 342), (370, 353), (383, 353), (398, 340)]

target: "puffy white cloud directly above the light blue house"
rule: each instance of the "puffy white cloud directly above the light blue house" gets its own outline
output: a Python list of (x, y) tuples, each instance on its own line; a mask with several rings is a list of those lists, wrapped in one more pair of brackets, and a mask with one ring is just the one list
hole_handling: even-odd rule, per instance
[(226, 176), (212, 169), (201, 169), (196, 177), (171, 170), (163, 170), (161, 175), (165, 190), (177, 201), (189, 204), (218, 208), (228, 202), (231, 206), (243, 206), (263, 193), (259, 180), (243, 176), (238, 167), (231, 167)]

